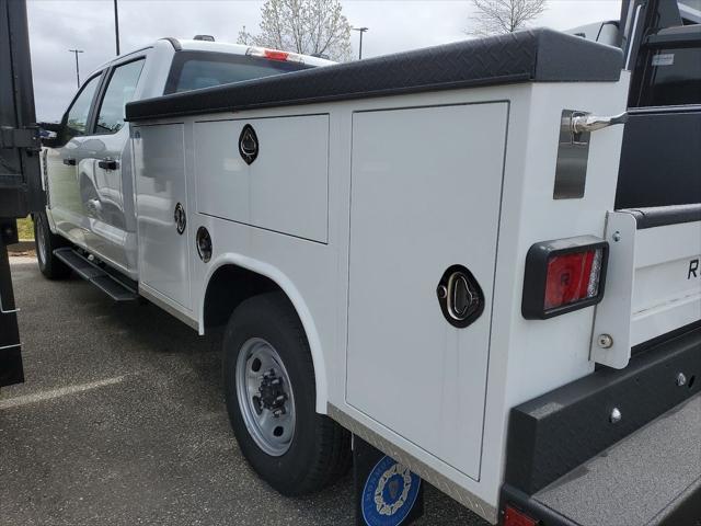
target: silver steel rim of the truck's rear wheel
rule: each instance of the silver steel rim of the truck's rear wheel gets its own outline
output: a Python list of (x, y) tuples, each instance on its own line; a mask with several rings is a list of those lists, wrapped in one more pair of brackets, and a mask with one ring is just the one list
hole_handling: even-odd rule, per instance
[(249, 434), (267, 455), (285, 455), (295, 436), (295, 396), (285, 364), (261, 338), (239, 351), (237, 398)]

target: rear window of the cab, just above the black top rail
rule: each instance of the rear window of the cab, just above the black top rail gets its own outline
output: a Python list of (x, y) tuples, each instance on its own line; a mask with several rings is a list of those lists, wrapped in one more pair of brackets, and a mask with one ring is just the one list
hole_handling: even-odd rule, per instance
[(285, 62), (230, 53), (180, 52), (173, 59), (164, 92), (166, 94), (180, 93), (299, 71), (310, 67), (299, 62)]

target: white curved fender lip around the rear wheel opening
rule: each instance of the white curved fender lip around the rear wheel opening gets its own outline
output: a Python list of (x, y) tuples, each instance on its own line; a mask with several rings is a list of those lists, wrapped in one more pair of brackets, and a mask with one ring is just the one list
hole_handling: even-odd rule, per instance
[(280, 287), (280, 289), (292, 302), (292, 306), (297, 311), (297, 316), (299, 316), (299, 319), (302, 322), (302, 327), (304, 328), (304, 332), (307, 333), (307, 340), (309, 341), (309, 348), (311, 351), (317, 385), (317, 412), (320, 414), (326, 414), (326, 402), (329, 401), (326, 387), (326, 367), (321, 348), (321, 340), (319, 338), (319, 332), (317, 331), (317, 325), (302, 295), (299, 293), (292, 281), (276, 266), (232, 252), (220, 254), (215, 260), (212, 260), (211, 264), (209, 265), (209, 270), (205, 275), (203, 288), (200, 291), (200, 300), (197, 307), (199, 334), (204, 335), (205, 333), (205, 299), (209, 281), (211, 279), (211, 276), (214, 276), (214, 274), (225, 265), (237, 265), (248, 271), (261, 274), (268, 279), (272, 279), (278, 287)]

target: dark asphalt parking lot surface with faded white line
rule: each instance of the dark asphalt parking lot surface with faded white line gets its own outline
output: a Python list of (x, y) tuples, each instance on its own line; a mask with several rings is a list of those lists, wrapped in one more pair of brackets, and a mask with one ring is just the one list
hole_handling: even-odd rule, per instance
[[(0, 393), (1, 525), (354, 524), (353, 479), (286, 499), (230, 431), (219, 341), (13, 258), (26, 382)], [(418, 525), (480, 525), (426, 489)]]

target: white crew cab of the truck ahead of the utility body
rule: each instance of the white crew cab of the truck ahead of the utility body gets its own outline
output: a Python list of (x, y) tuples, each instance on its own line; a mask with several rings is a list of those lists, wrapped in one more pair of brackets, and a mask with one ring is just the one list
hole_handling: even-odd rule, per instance
[[(61, 123), (44, 125), (56, 136), (44, 141), (50, 201), (47, 213), (35, 216), (42, 272), (51, 278), (70, 272), (53, 252), (69, 241), (123, 276), (138, 279), (126, 103), (329, 64), (333, 62), (208, 39), (164, 38), (100, 67), (83, 82)], [(115, 288), (112, 279), (94, 283), (115, 299), (129, 297), (128, 282), (123, 282), (127, 290)]]

